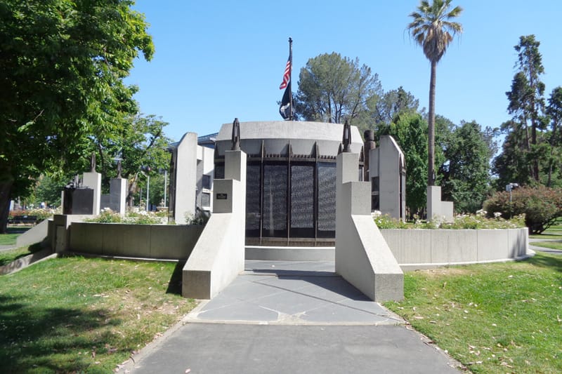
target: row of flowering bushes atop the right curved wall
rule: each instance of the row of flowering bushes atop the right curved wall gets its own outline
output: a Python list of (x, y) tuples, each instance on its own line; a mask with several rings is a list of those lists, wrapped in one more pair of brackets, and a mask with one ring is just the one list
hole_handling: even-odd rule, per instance
[(415, 222), (402, 222), (381, 212), (372, 213), (374, 222), (379, 229), (517, 229), (525, 227), (525, 215), (517, 215), (511, 220), (504, 220), (500, 215), (486, 218), (485, 211), (476, 215), (457, 215), (453, 222), (445, 222), (438, 217), (429, 222), (416, 219)]

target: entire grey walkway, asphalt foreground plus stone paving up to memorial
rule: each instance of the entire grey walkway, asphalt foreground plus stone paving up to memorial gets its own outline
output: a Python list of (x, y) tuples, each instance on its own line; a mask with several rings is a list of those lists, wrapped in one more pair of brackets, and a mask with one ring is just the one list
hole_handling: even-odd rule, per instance
[(119, 373), (458, 373), (459, 363), (334, 273), (247, 261)]

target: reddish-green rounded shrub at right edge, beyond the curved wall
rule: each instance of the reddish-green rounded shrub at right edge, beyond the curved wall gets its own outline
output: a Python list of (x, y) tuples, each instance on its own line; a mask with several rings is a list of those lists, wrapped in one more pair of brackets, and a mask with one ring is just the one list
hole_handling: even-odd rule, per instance
[(562, 216), (562, 191), (548, 187), (521, 187), (511, 192), (496, 192), (484, 201), (488, 212), (502, 213), (502, 217), (525, 215), (530, 234), (540, 234)]

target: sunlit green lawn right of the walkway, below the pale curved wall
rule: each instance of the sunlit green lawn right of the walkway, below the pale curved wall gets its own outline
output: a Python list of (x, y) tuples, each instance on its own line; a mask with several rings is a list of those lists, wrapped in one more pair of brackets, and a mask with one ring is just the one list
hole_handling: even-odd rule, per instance
[(406, 273), (386, 306), (473, 373), (562, 373), (562, 256)]

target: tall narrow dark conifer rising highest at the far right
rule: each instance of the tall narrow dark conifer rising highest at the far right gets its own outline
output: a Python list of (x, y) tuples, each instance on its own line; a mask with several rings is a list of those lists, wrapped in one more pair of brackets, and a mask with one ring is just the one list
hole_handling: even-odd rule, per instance
[(531, 159), (528, 167), (535, 182), (540, 181), (540, 152), (537, 148), (537, 130), (544, 129), (544, 84), (540, 75), (544, 74), (540, 42), (535, 35), (521, 36), (514, 48), (518, 53), (516, 72), (511, 82), (511, 91), (506, 93), (509, 100), (507, 110), (513, 115), (512, 128), (508, 131), (521, 132), (524, 146)]

